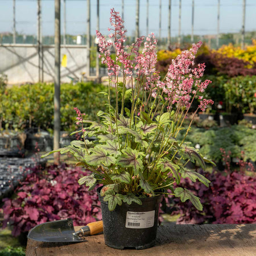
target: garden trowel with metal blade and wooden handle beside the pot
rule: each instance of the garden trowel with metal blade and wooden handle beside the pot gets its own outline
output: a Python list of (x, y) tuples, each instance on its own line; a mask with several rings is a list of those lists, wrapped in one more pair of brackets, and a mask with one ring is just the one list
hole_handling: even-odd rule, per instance
[(27, 237), (39, 242), (85, 242), (82, 236), (98, 234), (102, 231), (102, 221), (96, 221), (75, 232), (72, 218), (67, 218), (39, 224), (28, 232)]

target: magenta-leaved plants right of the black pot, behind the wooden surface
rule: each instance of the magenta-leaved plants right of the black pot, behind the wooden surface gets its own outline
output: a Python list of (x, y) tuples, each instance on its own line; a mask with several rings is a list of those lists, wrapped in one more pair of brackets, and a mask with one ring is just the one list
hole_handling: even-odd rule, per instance
[[(189, 179), (181, 179), (181, 184), (201, 197), (203, 212), (191, 203), (179, 203), (174, 213), (180, 214), (177, 224), (249, 224), (256, 223), (256, 177), (255, 167), (242, 159), (233, 171), (230, 170), (230, 152), (221, 149), (225, 170), (213, 171), (205, 176), (211, 180), (209, 188)], [(246, 174), (251, 173), (251, 176)], [(199, 171), (203, 173), (202, 170)]]

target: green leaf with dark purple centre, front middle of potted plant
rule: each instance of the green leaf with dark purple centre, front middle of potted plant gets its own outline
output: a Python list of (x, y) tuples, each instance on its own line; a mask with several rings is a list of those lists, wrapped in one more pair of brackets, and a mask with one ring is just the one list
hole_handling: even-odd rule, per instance
[(122, 155), (118, 156), (117, 164), (122, 167), (133, 167), (134, 174), (137, 175), (138, 171), (143, 168), (142, 160), (139, 158), (137, 150), (133, 150), (130, 147), (122, 151)]

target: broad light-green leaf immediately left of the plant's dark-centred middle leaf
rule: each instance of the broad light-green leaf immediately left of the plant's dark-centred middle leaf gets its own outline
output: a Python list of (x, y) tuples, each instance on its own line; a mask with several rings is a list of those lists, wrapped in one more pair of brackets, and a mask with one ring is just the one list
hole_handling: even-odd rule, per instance
[(98, 166), (99, 164), (110, 166), (115, 163), (114, 156), (109, 156), (108, 152), (103, 148), (94, 147), (91, 152), (92, 154), (85, 156), (85, 162), (90, 166)]

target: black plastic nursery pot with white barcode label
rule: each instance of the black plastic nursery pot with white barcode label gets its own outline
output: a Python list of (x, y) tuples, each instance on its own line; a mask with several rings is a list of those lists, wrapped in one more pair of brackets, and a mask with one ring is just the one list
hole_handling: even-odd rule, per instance
[(104, 239), (106, 245), (115, 249), (137, 250), (154, 246), (158, 228), (159, 205), (162, 195), (142, 198), (142, 205), (123, 203), (110, 212), (108, 202), (100, 195)]

